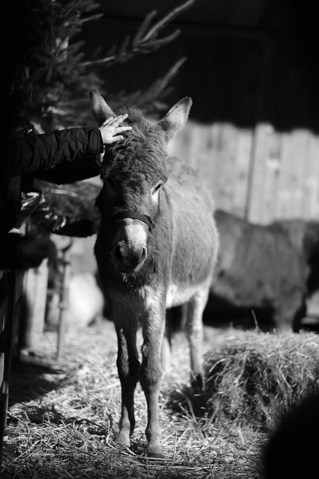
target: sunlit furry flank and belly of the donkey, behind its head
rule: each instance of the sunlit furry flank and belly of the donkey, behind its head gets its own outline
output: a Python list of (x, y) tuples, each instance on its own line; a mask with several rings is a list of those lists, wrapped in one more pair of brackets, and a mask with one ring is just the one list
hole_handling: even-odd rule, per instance
[[(171, 255), (166, 300), (170, 308), (185, 303), (195, 292), (201, 291), (206, 297), (218, 243), (213, 200), (197, 172), (177, 158), (167, 159), (167, 172), (159, 227), (163, 248)], [(170, 229), (169, 235), (164, 234), (165, 229)]]

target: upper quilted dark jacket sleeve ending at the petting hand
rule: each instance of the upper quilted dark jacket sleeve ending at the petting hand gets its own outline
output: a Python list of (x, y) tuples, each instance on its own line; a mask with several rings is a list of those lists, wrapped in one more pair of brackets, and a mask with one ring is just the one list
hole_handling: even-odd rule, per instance
[(12, 177), (88, 154), (103, 153), (103, 141), (98, 128), (68, 128), (49, 134), (11, 138), (5, 149)]

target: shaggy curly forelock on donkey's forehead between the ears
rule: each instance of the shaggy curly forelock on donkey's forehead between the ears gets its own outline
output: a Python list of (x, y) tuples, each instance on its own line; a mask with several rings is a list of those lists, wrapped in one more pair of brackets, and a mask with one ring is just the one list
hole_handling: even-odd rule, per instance
[(167, 150), (161, 129), (150, 125), (137, 108), (119, 108), (116, 111), (116, 114), (123, 113), (128, 114), (123, 125), (132, 126), (132, 130), (122, 134), (123, 141), (106, 147), (101, 179), (104, 181), (112, 175), (117, 180), (127, 177), (138, 181), (143, 178), (154, 184), (159, 180), (167, 181)]

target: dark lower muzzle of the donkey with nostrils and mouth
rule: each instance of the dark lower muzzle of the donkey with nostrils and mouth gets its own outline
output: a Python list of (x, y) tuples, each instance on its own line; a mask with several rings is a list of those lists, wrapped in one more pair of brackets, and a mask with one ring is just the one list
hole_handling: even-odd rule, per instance
[(143, 245), (128, 246), (124, 242), (119, 242), (114, 246), (112, 255), (118, 271), (136, 273), (146, 260), (147, 250)]

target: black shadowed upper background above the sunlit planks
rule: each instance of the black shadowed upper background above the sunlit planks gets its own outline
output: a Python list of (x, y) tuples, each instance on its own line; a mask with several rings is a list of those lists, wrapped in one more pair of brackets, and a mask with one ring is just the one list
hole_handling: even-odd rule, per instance
[[(177, 0), (102, 2), (104, 16), (84, 24), (86, 59), (103, 57), (112, 44), (134, 35), (146, 12), (164, 15)], [(319, 5), (291, 0), (197, 0), (168, 28), (180, 36), (150, 56), (118, 64), (105, 78), (105, 90), (136, 91), (188, 60), (173, 81), (173, 104), (191, 96), (191, 118), (238, 126), (270, 122), (277, 130), (319, 129)]]

